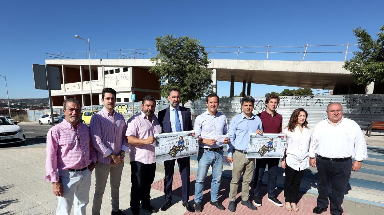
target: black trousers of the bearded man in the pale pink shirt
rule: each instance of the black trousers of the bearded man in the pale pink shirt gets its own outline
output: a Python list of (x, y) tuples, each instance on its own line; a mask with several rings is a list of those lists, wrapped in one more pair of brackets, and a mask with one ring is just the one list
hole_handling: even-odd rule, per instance
[(140, 210), (142, 205), (149, 205), (151, 184), (155, 179), (156, 163), (144, 164), (138, 161), (131, 162), (131, 210)]

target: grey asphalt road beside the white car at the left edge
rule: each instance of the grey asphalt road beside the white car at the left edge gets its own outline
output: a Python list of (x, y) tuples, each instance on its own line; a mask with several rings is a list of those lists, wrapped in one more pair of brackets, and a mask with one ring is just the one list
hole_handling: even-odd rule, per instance
[(1, 144), (2, 148), (19, 148), (19, 147), (45, 147), (46, 146), (46, 135), (48, 130), (52, 127), (51, 125), (39, 125), (38, 122), (19, 123), (20, 127), (24, 128), (25, 143), (18, 145), (17, 143)]

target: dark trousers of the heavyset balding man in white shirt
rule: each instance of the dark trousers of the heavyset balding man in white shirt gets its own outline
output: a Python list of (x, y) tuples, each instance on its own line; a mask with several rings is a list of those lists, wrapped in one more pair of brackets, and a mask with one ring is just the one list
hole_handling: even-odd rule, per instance
[(341, 204), (343, 203), (345, 190), (351, 177), (352, 159), (341, 162), (331, 162), (317, 157), (316, 165), (319, 173), (317, 206), (328, 208), (328, 185), (331, 183), (331, 213), (343, 213)]

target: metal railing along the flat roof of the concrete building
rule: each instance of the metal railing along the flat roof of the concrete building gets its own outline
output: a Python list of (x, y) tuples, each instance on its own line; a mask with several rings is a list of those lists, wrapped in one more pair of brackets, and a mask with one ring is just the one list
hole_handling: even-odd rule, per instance
[[(345, 47), (343, 50), (339, 47)], [(349, 50), (351, 48), (354, 50)], [(326, 48), (326, 50), (324, 50)], [(303, 45), (303, 46), (212, 46), (205, 47), (210, 59), (242, 59), (242, 60), (304, 60), (308, 54), (336, 53), (344, 54), (344, 61), (347, 60), (348, 53), (356, 52), (357, 44), (336, 44), (336, 45)], [(311, 50), (309, 50), (311, 49)], [(116, 50), (96, 50), (91, 51), (92, 59), (149, 59), (157, 54), (156, 48), (133, 48)], [(251, 55), (250, 55), (251, 54)], [(276, 57), (277, 54), (288, 54), (284, 57)], [(262, 57), (264, 55), (264, 57)], [(300, 57), (302, 55), (303, 58)], [(330, 60), (342, 59), (328, 56)], [(46, 59), (88, 59), (88, 51), (76, 52), (50, 52), (45, 53)], [(300, 57), (299, 59), (297, 59)], [(307, 56), (308, 57), (308, 56)], [(323, 57), (314, 57), (314, 59)]]

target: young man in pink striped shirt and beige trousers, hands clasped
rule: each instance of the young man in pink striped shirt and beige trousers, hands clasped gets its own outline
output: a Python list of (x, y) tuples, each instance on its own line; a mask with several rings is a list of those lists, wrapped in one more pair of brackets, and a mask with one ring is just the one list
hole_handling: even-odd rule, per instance
[(116, 91), (112, 88), (104, 88), (101, 92), (101, 102), (104, 107), (95, 113), (89, 128), (93, 146), (97, 150), (96, 185), (93, 196), (92, 214), (99, 215), (103, 194), (110, 175), (112, 215), (124, 214), (119, 209), (119, 188), (124, 156), (129, 152), (125, 138), (126, 124), (124, 117), (114, 110), (116, 104)]

